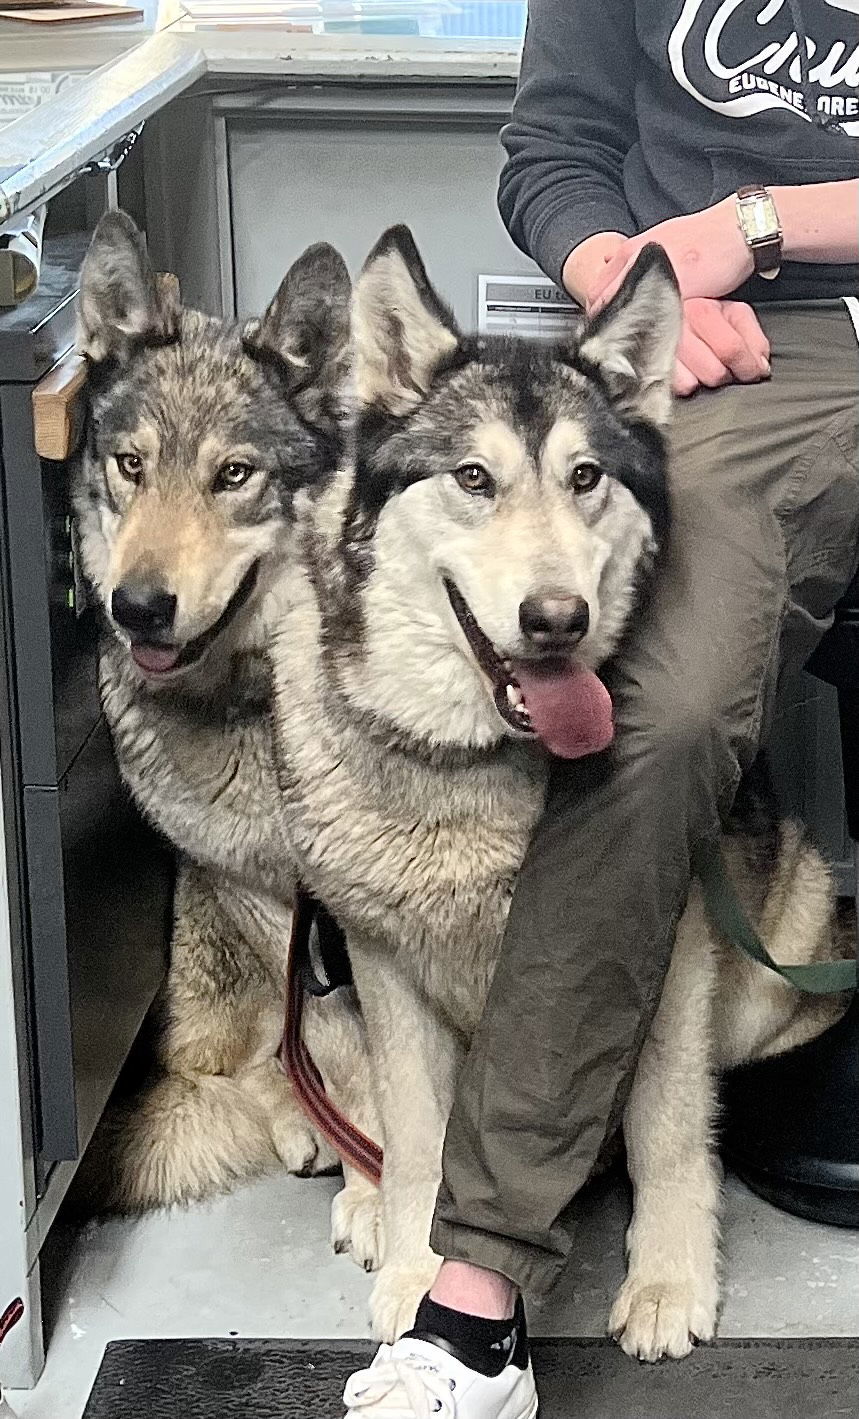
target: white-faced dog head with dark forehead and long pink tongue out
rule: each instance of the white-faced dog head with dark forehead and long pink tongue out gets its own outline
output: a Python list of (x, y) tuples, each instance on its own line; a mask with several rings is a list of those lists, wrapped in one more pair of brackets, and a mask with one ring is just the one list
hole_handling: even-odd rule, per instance
[(680, 321), (647, 247), (567, 345), (463, 338), (407, 230), (381, 240), (355, 289), (355, 482), (325, 627), (355, 707), (433, 746), (605, 746), (593, 671), (667, 529)]

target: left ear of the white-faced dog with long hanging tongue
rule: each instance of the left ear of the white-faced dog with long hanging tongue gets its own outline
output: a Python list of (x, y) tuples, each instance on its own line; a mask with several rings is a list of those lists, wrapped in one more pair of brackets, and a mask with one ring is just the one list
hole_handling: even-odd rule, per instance
[(392, 227), (366, 258), (352, 302), (359, 404), (403, 414), (460, 343), (456, 321), (429, 282), (407, 227)]

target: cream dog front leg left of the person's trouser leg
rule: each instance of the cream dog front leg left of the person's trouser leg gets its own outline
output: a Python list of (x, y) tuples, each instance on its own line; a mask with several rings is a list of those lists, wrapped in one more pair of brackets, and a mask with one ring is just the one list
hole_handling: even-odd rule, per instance
[(385, 1263), (371, 1314), (375, 1335), (392, 1341), (409, 1330), (439, 1271), (429, 1233), (463, 1050), (390, 952), (352, 941), (349, 952), (385, 1145)]

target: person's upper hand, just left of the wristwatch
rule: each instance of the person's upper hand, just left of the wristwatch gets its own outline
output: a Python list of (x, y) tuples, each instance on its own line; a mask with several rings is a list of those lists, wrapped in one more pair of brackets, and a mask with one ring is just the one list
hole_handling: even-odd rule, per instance
[(638, 237), (625, 237), (589, 285), (589, 311), (611, 301), (639, 251), (650, 241), (667, 253), (686, 299), (730, 295), (754, 272), (751, 253), (737, 224), (735, 200), (726, 197), (714, 207), (670, 217)]

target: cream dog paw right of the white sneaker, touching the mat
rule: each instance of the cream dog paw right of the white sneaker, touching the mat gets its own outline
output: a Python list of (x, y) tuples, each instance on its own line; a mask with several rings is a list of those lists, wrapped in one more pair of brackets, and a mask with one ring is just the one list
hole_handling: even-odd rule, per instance
[(713, 1340), (717, 1307), (714, 1280), (643, 1284), (628, 1277), (612, 1307), (609, 1331), (633, 1359), (683, 1359), (697, 1341)]

